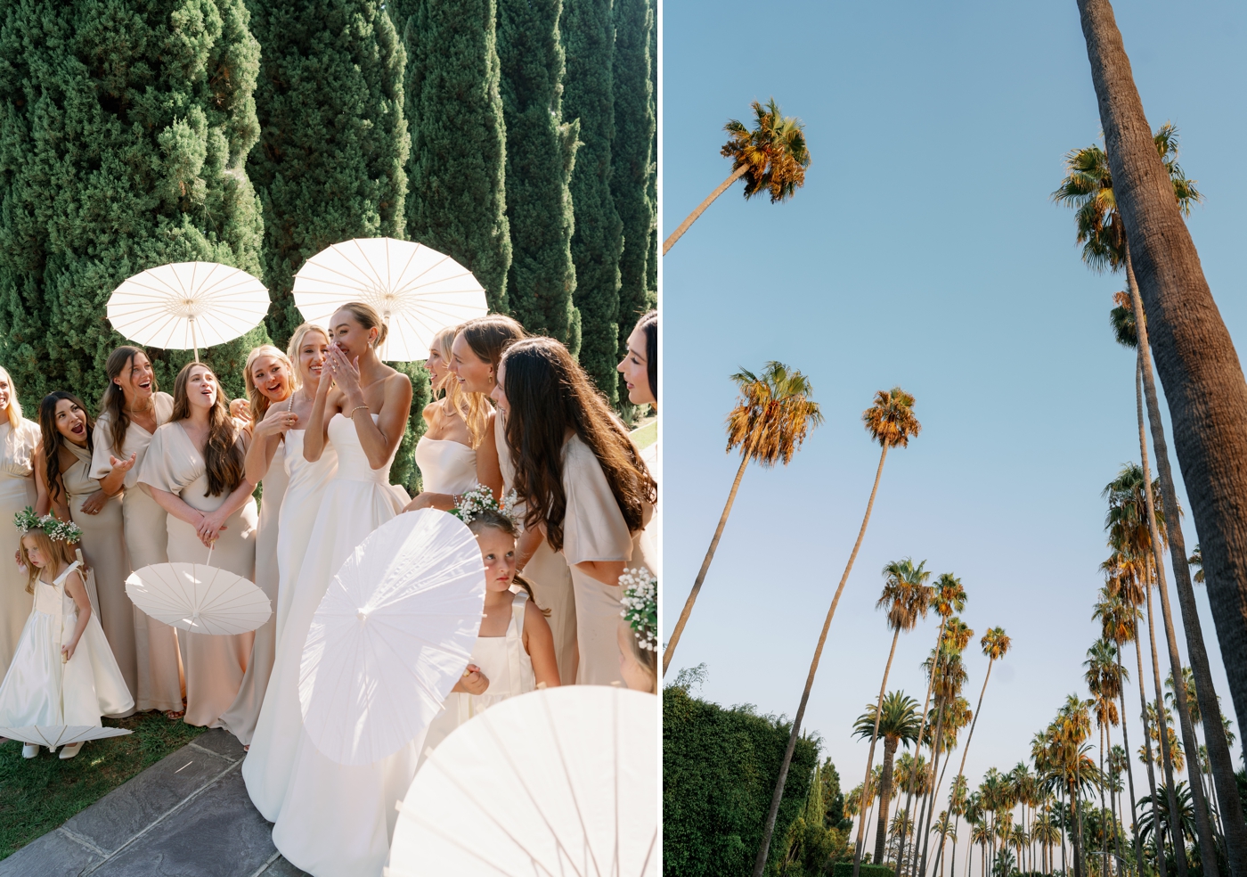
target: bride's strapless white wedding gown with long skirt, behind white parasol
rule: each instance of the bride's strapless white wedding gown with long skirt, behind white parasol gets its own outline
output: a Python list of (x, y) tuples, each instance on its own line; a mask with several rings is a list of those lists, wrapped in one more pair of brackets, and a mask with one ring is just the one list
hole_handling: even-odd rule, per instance
[(329, 440), (338, 450), (338, 472), (320, 498), (242, 773), (256, 808), (276, 822), (273, 843), (292, 865), (315, 877), (375, 877), (389, 853), (394, 805), (412, 785), (423, 735), (372, 765), (330, 761), (303, 730), (299, 662), (329, 581), (403, 505), (389, 485), (389, 463), (369, 467), (348, 418), (334, 415)]

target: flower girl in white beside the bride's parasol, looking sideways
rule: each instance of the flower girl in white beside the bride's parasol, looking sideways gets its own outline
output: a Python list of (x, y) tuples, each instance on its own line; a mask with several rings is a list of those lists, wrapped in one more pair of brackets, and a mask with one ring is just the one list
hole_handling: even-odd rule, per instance
[[(515, 575), (515, 523), (496, 508), (488, 488), (469, 490), (455, 514), (476, 536), (485, 561), (485, 616), (463, 679), (429, 725), (421, 761), (451, 731), (494, 704), (537, 686), (559, 685), (545, 611), (534, 601), (529, 583)], [(522, 590), (514, 591), (513, 585)]]

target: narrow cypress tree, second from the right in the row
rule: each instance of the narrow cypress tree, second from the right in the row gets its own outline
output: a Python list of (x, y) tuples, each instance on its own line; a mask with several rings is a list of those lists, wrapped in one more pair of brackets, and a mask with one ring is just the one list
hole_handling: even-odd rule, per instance
[(575, 303), (580, 308), (580, 364), (614, 403), (619, 398), (620, 251), (624, 226), (611, 196), (615, 140), (615, 22), (611, 0), (566, 0), (562, 41), (567, 52), (564, 115), (580, 120), (580, 150), (571, 173), (576, 231)]

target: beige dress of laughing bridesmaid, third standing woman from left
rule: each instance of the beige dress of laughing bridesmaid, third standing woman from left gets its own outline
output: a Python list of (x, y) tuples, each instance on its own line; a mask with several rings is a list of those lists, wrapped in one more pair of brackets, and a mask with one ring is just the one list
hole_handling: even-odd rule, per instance
[[(156, 405), (157, 430), (173, 417), (173, 397), (168, 393), (152, 395)], [(112, 472), (108, 457), (130, 459), (135, 465), (126, 473), (122, 487), (121, 516), (126, 534), (126, 555), (130, 569), (142, 569), (152, 564), (168, 563), (168, 530), (165, 509), (156, 504), (146, 485), (138, 483), (138, 473), (147, 455), (152, 434), (133, 420), (126, 428), (121, 450), (112, 447), (112, 413), (104, 412), (95, 422), (95, 454), (91, 457), (91, 478), (105, 478)], [(138, 690), (135, 709), (182, 709), (186, 685), (182, 676), (182, 657), (178, 650), (177, 630), (161, 624), (135, 606), (135, 662), (137, 664)]]

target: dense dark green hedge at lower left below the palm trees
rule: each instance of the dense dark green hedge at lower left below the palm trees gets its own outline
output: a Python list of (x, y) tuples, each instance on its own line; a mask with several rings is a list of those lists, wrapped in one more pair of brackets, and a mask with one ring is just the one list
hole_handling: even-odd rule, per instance
[[(752, 873), (791, 729), (791, 724), (754, 715), (748, 707), (727, 710), (692, 697), (682, 687), (663, 690), (663, 875)], [(768, 875), (778, 873), (777, 863), (786, 852), (783, 838), (804, 807), (817, 761), (818, 745), (798, 740), (776, 820)]]

